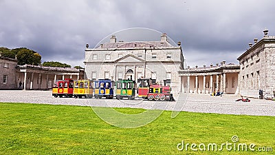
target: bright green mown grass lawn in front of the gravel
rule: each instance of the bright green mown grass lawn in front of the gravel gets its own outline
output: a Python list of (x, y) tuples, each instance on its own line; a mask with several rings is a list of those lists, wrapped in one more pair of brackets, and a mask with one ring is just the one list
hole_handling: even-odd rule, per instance
[[(116, 109), (125, 114), (140, 109)], [(275, 149), (275, 117), (164, 112), (153, 123), (125, 129), (102, 121), (91, 107), (0, 103), (0, 154), (274, 154), (178, 151), (177, 144), (239, 143)]]

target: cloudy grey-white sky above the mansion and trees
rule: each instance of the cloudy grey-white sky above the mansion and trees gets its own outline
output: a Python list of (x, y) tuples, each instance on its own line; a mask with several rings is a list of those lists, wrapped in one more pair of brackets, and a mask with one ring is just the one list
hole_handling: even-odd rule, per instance
[(181, 41), (188, 65), (238, 63), (263, 30), (275, 35), (273, 0), (0, 0), (0, 47), (30, 48), (42, 61), (84, 67), (86, 43), (127, 28)]

